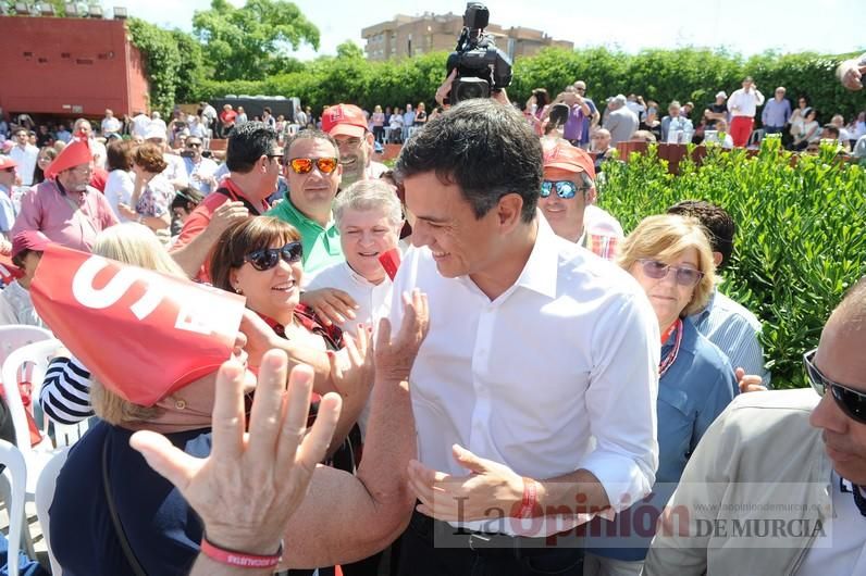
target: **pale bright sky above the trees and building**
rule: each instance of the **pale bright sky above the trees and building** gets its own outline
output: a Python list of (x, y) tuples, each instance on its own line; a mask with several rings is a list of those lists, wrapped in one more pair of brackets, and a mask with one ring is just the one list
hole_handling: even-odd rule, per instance
[[(244, 3), (231, 1), (237, 5)], [(103, 3), (114, 5), (109, 1)], [(191, 29), (196, 10), (210, 7), (210, 0), (115, 0), (115, 3), (126, 5), (129, 15), (185, 30)], [(304, 47), (295, 54), (302, 60), (333, 54), (345, 40), (363, 46), (361, 28), (397, 13), (416, 15), (435, 7), (437, 13), (460, 14), (466, 9), (465, 1), (455, 0), (296, 0), (295, 3), (322, 35), (319, 52)], [(576, 8), (579, 5), (586, 8)], [(492, 0), (487, 8), (491, 22), (542, 29), (578, 47), (609, 46), (628, 52), (644, 48), (725, 47), (745, 55), (769, 49), (821, 53), (866, 50), (866, 0)]]

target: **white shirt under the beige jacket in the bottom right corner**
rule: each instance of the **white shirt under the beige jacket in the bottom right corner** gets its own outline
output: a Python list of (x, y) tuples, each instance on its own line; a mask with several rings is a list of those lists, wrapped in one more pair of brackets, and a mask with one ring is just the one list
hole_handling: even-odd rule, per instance
[(843, 492), (839, 475), (833, 472), (833, 517), (825, 525), (832, 546), (809, 548), (796, 576), (866, 574), (866, 517), (854, 503), (851, 483), (844, 481)]

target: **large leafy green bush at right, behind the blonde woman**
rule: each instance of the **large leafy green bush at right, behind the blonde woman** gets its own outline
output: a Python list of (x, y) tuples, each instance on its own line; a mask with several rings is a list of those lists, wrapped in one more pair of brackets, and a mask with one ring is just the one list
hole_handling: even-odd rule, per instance
[[(792, 165), (793, 164), (793, 165)], [(655, 149), (604, 168), (599, 205), (627, 234), (645, 216), (686, 199), (723, 206), (738, 225), (721, 290), (764, 323), (762, 341), (774, 386), (806, 386), (802, 354), (845, 289), (866, 274), (866, 174), (834, 150), (796, 162), (765, 139), (759, 154), (713, 148), (702, 165), (667, 172)]]

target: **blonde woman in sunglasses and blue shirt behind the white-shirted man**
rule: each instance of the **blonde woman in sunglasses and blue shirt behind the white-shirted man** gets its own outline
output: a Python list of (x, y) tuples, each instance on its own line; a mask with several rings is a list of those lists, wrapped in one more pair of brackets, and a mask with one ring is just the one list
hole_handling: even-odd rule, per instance
[[(641, 573), (652, 535), (642, 538), (635, 533), (644, 536), (646, 526), (655, 526), (701, 437), (739, 391), (725, 354), (686, 320), (706, 305), (714, 283), (713, 251), (697, 221), (675, 215), (644, 218), (626, 238), (617, 263), (643, 287), (661, 335), (658, 471), (648, 502), (638, 503), (613, 523), (593, 521), (590, 534), (618, 536), (587, 540), (586, 575)], [(655, 515), (647, 518), (638, 510)]]

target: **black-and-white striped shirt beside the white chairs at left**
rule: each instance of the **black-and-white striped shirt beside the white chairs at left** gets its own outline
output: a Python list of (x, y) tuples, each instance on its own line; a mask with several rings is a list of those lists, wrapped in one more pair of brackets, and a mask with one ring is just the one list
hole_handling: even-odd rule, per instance
[(77, 424), (89, 418), (94, 415), (90, 372), (75, 358), (53, 359), (39, 392), (39, 405), (59, 424)]

